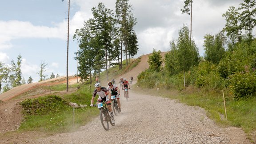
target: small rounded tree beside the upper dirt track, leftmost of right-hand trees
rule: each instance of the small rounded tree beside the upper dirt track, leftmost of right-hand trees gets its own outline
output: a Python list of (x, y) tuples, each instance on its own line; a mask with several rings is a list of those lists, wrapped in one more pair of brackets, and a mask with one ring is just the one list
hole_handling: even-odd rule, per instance
[(153, 49), (152, 55), (148, 56), (148, 64), (150, 70), (159, 72), (162, 65), (161, 51), (156, 52), (156, 49)]

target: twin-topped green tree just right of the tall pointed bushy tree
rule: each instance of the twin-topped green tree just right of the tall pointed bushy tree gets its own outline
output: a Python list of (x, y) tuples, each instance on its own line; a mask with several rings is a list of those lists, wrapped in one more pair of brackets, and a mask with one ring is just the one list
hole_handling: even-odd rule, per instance
[(204, 58), (213, 64), (219, 64), (219, 61), (224, 57), (224, 44), (226, 38), (222, 32), (219, 32), (215, 36), (207, 34), (204, 36)]

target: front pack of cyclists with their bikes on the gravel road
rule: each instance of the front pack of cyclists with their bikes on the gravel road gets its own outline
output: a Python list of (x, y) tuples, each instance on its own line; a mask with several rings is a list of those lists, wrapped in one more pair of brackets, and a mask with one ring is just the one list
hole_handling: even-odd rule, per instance
[[(132, 80), (133, 77), (130, 78), (130, 83), (132, 84)], [(121, 77), (121, 79), (119, 80), (120, 83), (120, 88), (122, 90), (124, 90), (124, 97), (126, 98), (126, 100), (128, 100), (128, 89), (130, 89), (130, 84), (129, 82), (126, 80), (126, 78)], [(115, 84), (115, 80), (112, 79), (110, 82), (108, 82), (108, 87), (102, 87), (101, 84), (96, 81), (95, 86), (95, 90), (92, 93), (92, 100), (91, 100), (91, 107), (93, 106), (97, 106), (100, 109), (100, 113), (102, 113), (102, 107), (103, 104), (105, 104), (106, 108), (108, 109), (107, 114), (104, 114), (103, 116), (100, 114), (100, 120), (101, 123), (104, 127), (105, 130), (108, 130), (108, 128), (106, 128), (106, 126), (104, 126), (104, 121), (106, 121), (107, 125), (108, 125), (108, 120), (105, 117), (108, 117), (108, 114), (110, 114), (110, 119), (109, 122), (112, 125), (115, 125), (115, 119), (114, 119), (114, 113), (113, 110), (115, 111), (115, 109), (118, 112), (121, 112), (121, 103), (120, 103), (120, 88), (118, 88), (118, 86)], [(110, 92), (109, 92), (110, 91)], [(96, 105), (93, 105), (94, 99), (96, 96), (99, 96), (96, 102)], [(113, 109), (112, 109), (112, 103), (113, 102), (117, 102), (116, 105), (113, 104)], [(117, 108), (116, 108), (117, 107)], [(116, 112), (115, 112), (116, 114)], [(104, 118), (103, 118), (104, 117)]]

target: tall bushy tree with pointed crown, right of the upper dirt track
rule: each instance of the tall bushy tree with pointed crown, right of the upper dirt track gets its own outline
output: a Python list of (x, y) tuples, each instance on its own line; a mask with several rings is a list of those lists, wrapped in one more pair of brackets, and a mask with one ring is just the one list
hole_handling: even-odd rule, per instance
[[(172, 72), (184, 72), (184, 86), (185, 84), (185, 72), (189, 70), (193, 65), (197, 65), (199, 61), (198, 48), (194, 40), (189, 39), (188, 26), (183, 25), (179, 30), (178, 39), (172, 40), (171, 50), (167, 56), (165, 56), (166, 67), (171, 68)], [(169, 65), (168, 65), (169, 64)]]

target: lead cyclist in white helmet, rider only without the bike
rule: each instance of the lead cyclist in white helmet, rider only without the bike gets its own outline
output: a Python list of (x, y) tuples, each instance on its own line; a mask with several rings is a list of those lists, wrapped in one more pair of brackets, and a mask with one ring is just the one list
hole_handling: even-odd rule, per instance
[(90, 106), (93, 107), (94, 98), (95, 98), (96, 95), (98, 95), (99, 98), (98, 98), (96, 104), (99, 104), (103, 101), (106, 102), (108, 110), (109, 110), (110, 115), (111, 115), (111, 121), (112, 121), (113, 124), (115, 124), (114, 113), (112, 111), (111, 101), (110, 101), (111, 100), (111, 93), (108, 92), (107, 88), (101, 87), (100, 83), (96, 83), (94, 86), (95, 86), (96, 89), (94, 90), (94, 92), (92, 94), (92, 100), (91, 100), (91, 105)]

